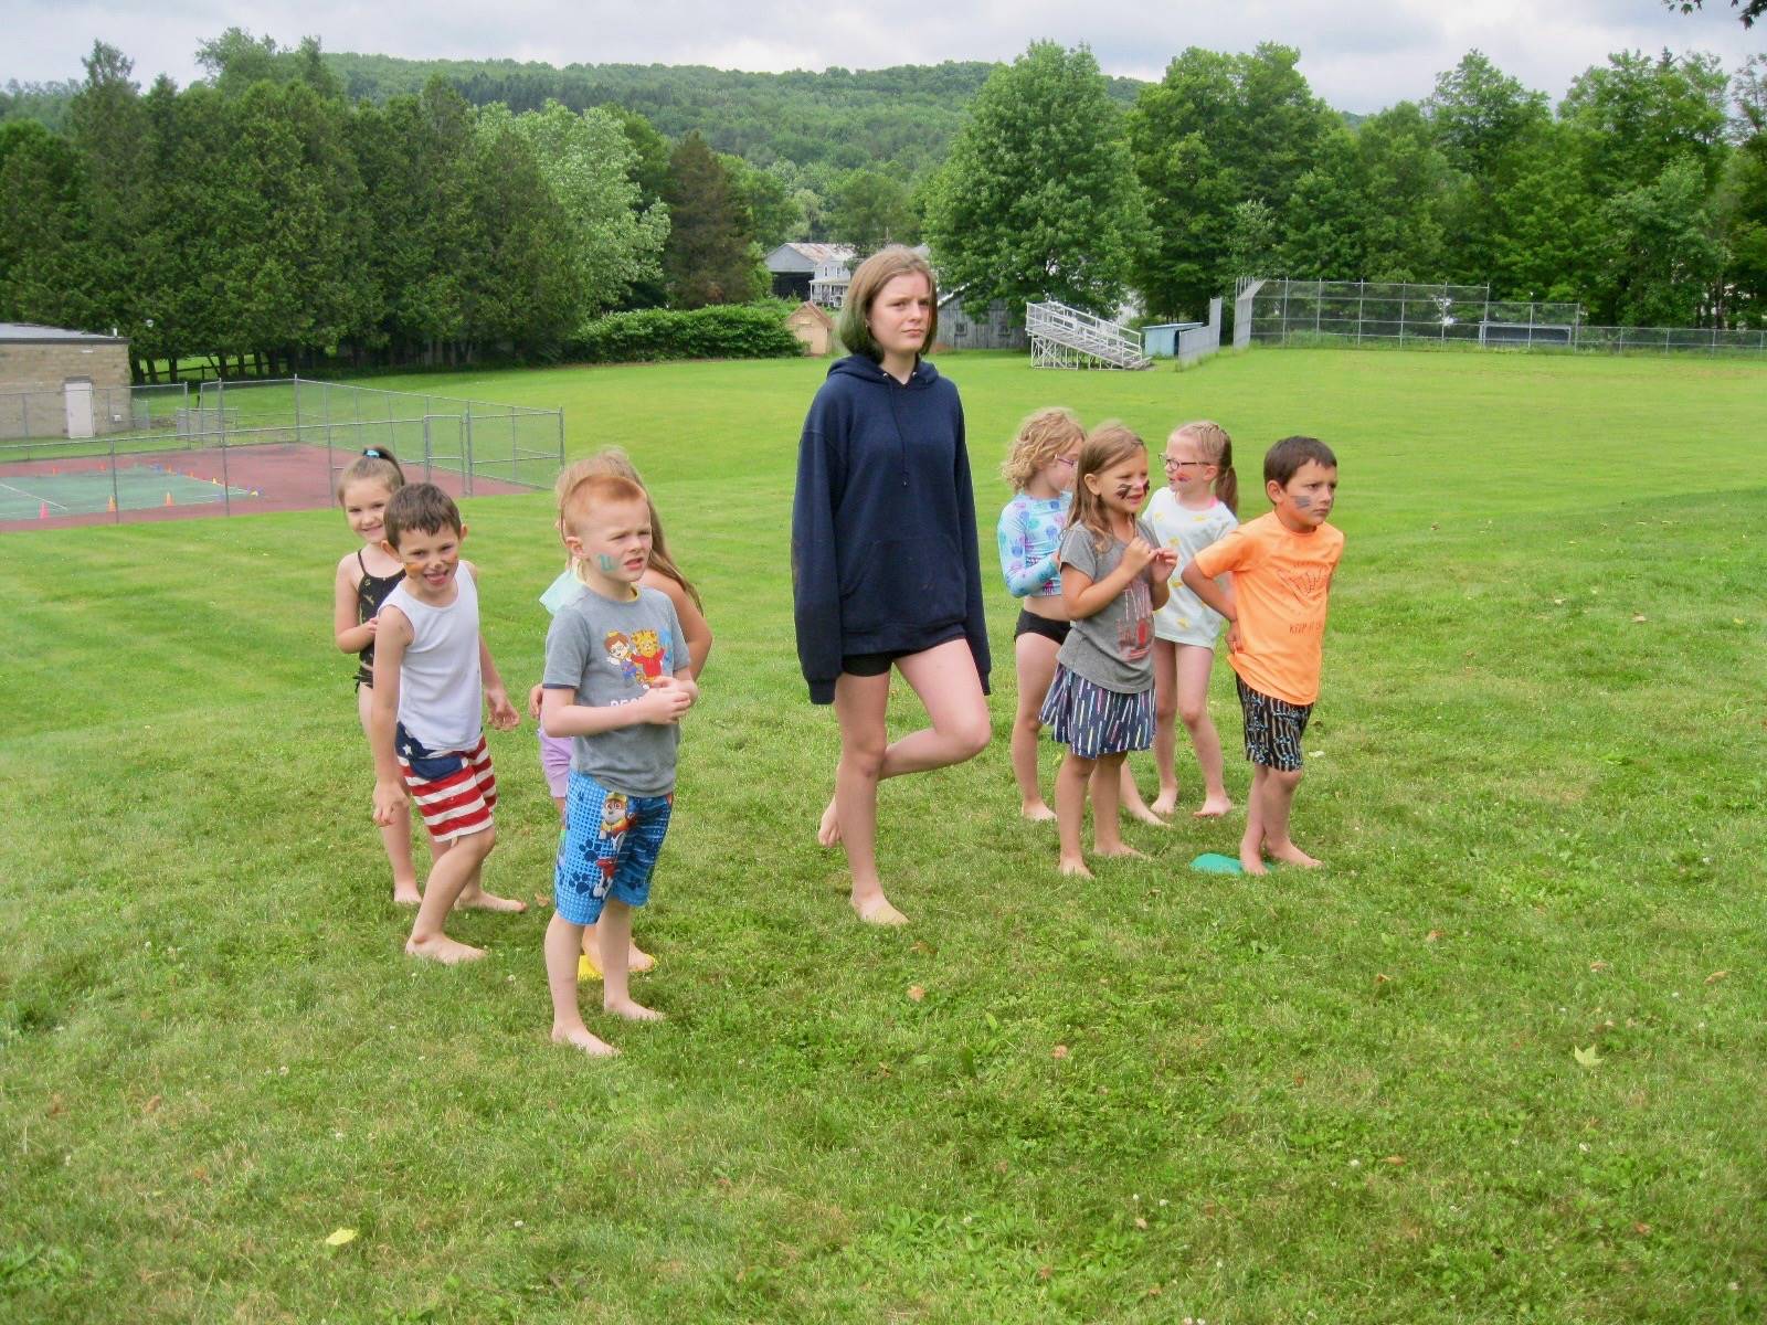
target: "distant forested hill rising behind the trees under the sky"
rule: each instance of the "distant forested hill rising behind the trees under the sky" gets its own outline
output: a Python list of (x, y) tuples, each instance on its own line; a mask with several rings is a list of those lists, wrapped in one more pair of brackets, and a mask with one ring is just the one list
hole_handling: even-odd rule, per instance
[[(327, 53), (325, 64), (352, 101), (419, 92), (440, 74), (475, 106), (539, 110), (548, 99), (571, 110), (613, 102), (638, 111), (670, 138), (698, 129), (716, 150), (767, 168), (894, 166), (917, 178), (935, 170), (975, 92), (998, 65), (947, 60), (894, 69), (827, 69), (747, 74), (705, 65), (569, 64), (518, 60), (399, 60)], [(1108, 80), (1124, 108), (1141, 83)]]

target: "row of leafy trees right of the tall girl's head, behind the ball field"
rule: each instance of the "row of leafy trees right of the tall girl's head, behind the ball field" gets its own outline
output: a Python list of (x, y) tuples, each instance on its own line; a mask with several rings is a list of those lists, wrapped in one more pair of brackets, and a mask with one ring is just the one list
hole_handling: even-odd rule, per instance
[(1592, 323), (1767, 322), (1767, 58), (1622, 51), (1550, 104), (1479, 51), (1350, 124), (1299, 51), (1187, 49), (1127, 110), (1085, 49), (977, 92), (928, 187), (975, 297), (1200, 316), (1239, 276), (1490, 284)]

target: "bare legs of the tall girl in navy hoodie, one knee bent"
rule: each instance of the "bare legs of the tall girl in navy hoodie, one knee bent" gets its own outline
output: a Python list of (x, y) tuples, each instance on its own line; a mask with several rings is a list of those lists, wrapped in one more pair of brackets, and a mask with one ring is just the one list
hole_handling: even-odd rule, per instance
[(889, 677), (843, 673), (834, 684), (834, 712), (841, 723), (841, 763), (834, 776), (839, 841), (846, 846), (846, 867), (853, 880), (853, 910), (871, 924), (903, 924), (906, 919), (889, 905), (878, 878), (878, 783), (961, 763), (979, 754), (990, 737), (988, 696), (975, 675), (968, 641), (949, 640), (898, 659), (896, 666), (926, 705), (931, 726), (887, 746), (884, 712)]

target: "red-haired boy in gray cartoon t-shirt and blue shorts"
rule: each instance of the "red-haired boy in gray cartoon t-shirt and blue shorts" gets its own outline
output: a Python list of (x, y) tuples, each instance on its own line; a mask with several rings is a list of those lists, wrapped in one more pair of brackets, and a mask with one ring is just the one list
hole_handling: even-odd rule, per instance
[(546, 928), (553, 1041), (617, 1053), (583, 1025), (576, 958), (583, 928), (601, 945), (604, 1011), (629, 1021), (659, 1016), (627, 988), (633, 910), (650, 897), (675, 802), (680, 716), (700, 698), (675, 604), (638, 583), (650, 560), (650, 504), (610, 473), (558, 481), (560, 526), (581, 590), (546, 632), (541, 728), (573, 737), (565, 836)]

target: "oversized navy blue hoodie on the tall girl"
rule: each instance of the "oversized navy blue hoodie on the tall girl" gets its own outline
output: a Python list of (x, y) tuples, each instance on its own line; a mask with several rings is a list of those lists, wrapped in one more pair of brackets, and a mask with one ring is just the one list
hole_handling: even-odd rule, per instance
[(956, 638), (988, 689), (963, 403), (931, 364), (906, 383), (864, 355), (829, 369), (797, 452), (792, 595), (811, 703), (834, 703), (843, 655)]

